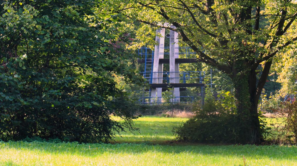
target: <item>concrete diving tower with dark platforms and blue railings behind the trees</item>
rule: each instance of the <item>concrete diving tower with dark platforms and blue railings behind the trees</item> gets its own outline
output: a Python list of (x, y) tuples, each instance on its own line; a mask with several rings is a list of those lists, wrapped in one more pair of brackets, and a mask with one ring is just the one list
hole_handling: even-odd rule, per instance
[[(168, 24), (164, 26), (168, 26)], [(175, 29), (174, 26), (170, 26), (170, 28)], [(198, 59), (195, 58), (196, 53), (191, 52), (192, 49), (189, 47), (178, 46), (178, 33), (176, 31), (170, 30), (170, 34), (167, 34), (166, 37), (169, 37), (169, 47), (164, 46), (165, 29), (157, 29), (154, 50), (146, 47), (138, 50), (138, 54), (141, 56), (138, 62), (144, 63), (144, 72), (140, 73), (150, 84), (150, 102), (154, 102), (156, 99), (157, 103), (162, 102), (162, 88), (173, 88), (174, 102), (180, 102), (180, 88), (205, 86), (202, 83), (204, 72), (179, 71), (179, 64), (198, 62)], [(169, 58), (164, 58), (164, 55), (168, 54)], [(180, 55), (182, 55), (182, 58), (180, 58)], [(163, 71), (163, 64), (169, 64), (169, 71)], [(199, 83), (193, 83), (197, 81), (189, 82), (190, 79), (198, 79)]]

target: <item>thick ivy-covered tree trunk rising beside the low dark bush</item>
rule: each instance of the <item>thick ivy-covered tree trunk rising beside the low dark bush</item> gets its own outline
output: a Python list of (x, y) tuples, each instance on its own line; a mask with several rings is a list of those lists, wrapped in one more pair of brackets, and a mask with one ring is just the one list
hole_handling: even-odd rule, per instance
[(238, 142), (259, 144), (261, 142), (260, 122), (258, 118), (258, 96), (255, 71), (233, 79), (237, 100), (237, 121), (240, 130)]

